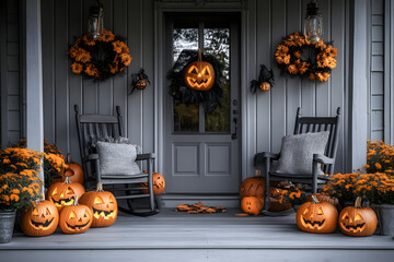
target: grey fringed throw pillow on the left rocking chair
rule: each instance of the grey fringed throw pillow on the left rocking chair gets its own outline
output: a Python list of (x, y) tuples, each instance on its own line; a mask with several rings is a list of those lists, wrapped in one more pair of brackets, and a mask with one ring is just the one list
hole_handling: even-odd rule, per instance
[(132, 144), (97, 142), (100, 172), (103, 176), (136, 175), (141, 170), (136, 163), (137, 150)]

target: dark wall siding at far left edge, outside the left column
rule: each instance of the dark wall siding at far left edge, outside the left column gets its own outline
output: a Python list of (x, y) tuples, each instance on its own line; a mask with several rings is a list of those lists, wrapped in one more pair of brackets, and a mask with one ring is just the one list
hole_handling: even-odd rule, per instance
[(1, 110), (4, 110), (1, 141), (3, 146), (9, 146), (19, 141), (22, 132), (20, 1), (3, 1), (1, 8), (5, 22), (1, 35)]

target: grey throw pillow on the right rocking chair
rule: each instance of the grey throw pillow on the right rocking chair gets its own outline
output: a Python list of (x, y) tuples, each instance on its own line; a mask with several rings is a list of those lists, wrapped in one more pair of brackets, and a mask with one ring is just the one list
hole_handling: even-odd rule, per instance
[[(328, 131), (286, 135), (276, 172), (312, 175), (313, 154), (324, 154)], [(323, 175), (318, 167), (317, 175)]]

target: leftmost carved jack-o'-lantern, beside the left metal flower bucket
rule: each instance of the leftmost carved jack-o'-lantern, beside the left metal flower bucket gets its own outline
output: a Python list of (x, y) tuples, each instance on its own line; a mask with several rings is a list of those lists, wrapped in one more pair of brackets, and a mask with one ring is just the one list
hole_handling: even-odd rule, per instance
[(48, 200), (36, 203), (34, 207), (22, 211), (21, 228), (30, 237), (44, 237), (53, 234), (59, 224), (59, 212)]

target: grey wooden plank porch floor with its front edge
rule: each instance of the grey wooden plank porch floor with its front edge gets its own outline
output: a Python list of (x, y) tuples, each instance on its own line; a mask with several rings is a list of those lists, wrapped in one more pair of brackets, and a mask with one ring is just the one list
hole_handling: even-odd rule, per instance
[(0, 261), (394, 261), (392, 237), (351, 238), (301, 233), (286, 217), (185, 214), (119, 215), (108, 228), (44, 238), (14, 235), (0, 245)]

